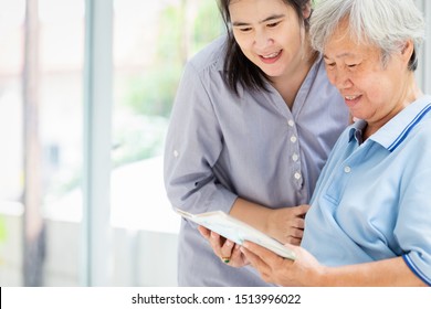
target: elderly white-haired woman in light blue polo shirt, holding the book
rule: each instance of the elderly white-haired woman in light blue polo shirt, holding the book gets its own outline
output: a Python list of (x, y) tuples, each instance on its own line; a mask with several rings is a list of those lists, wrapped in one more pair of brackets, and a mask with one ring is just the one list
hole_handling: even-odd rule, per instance
[(302, 247), (288, 245), (296, 259), (244, 244), (264, 280), (431, 285), (431, 97), (413, 74), (423, 28), (410, 0), (319, 1), (313, 45), (358, 120), (319, 177)]

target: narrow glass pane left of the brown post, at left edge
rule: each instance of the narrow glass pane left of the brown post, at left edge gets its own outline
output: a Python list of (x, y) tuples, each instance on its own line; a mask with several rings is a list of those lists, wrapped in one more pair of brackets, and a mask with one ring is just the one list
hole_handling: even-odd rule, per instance
[(0, 0), (0, 286), (22, 283), (22, 39), (24, 1)]

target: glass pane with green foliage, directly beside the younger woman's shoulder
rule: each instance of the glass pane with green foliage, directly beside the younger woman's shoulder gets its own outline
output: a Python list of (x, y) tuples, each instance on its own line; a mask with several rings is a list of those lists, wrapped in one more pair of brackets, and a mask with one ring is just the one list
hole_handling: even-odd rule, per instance
[(114, 281), (175, 286), (179, 217), (162, 184), (164, 139), (183, 64), (221, 19), (213, 0), (114, 3)]

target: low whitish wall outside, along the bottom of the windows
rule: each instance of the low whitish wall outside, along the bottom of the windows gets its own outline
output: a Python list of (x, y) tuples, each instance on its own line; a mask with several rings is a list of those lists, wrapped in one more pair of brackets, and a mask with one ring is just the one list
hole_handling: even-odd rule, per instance
[[(2, 214), (8, 231), (0, 243), (0, 286), (22, 286), (22, 214)], [(77, 287), (81, 226), (46, 220), (44, 286)], [(111, 286), (177, 286), (177, 235), (113, 228)]]

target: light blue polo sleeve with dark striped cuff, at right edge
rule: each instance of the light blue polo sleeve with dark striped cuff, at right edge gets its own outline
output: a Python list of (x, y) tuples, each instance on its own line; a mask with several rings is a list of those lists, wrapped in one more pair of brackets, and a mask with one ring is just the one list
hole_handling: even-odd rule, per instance
[[(430, 130), (427, 131), (428, 136), (429, 132)], [(401, 182), (395, 234), (406, 253), (403, 259), (407, 265), (431, 286), (431, 142), (429, 137), (418, 137), (416, 142), (418, 158), (411, 158), (412, 164), (407, 166), (414, 168), (404, 174), (406, 179)]]

